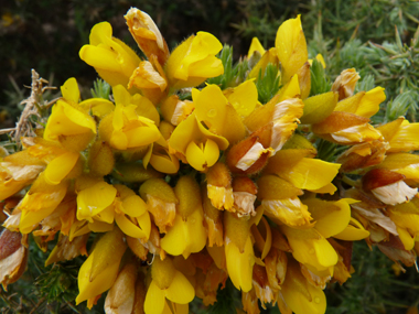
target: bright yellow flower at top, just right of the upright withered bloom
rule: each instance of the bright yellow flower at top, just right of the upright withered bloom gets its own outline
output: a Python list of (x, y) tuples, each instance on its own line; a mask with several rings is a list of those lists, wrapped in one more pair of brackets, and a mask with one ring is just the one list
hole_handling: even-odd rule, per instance
[(223, 48), (219, 41), (206, 32), (197, 32), (180, 44), (165, 64), (171, 88), (194, 87), (208, 77), (224, 73), (222, 61), (215, 55)]

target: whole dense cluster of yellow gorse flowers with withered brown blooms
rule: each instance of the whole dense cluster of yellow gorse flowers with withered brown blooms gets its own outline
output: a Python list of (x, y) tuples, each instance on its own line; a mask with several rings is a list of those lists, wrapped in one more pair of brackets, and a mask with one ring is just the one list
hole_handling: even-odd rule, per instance
[[(300, 17), (282, 23), (275, 47), (254, 39), (245, 74), (223, 88), (203, 84), (226, 71), (214, 35), (170, 52), (147, 13), (125, 18), (146, 58), (96, 24), (79, 56), (112, 96), (80, 101), (69, 78), (44, 128), (1, 160), (3, 286), (23, 272), (30, 232), (42, 242), (58, 234), (46, 264), (87, 256), (99, 235), (76, 303), (92, 307), (108, 291), (106, 313), (187, 313), (195, 296), (216, 302), (227, 279), (247, 313), (258, 302), (324, 313), (326, 283), (353, 272), (353, 241), (415, 263), (419, 124), (370, 124), (385, 93), (355, 93), (355, 69), (312, 95)], [(272, 67), (277, 86), (261, 104), (258, 82)], [(322, 160), (319, 141), (345, 151)]]

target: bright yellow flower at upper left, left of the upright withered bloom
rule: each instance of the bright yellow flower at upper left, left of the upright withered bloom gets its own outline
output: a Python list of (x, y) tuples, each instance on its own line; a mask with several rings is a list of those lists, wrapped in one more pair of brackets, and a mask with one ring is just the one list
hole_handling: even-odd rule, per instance
[(119, 84), (127, 87), (129, 78), (141, 62), (128, 45), (112, 37), (112, 28), (108, 22), (93, 26), (89, 44), (80, 48), (79, 56), (95, 67), (100, 77), (112, 87)]

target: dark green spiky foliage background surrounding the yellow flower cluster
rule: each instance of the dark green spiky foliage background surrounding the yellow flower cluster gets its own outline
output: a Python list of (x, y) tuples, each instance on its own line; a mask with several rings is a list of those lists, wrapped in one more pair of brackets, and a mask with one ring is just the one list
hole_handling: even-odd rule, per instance
[[(0, 127), (14, 126), (21, 110), (18, 104), (30, 93), (23, 85), (30, 85), (31, 68), (54, 86), (74, 76), (84, 93), (89, 93), (96, 73), (78, 58), (78, 50), (88, 43), (95, 23), (109, 21), (114, 35), (138, 52), (122, 17), (130, 7), (154, 19), (170, 47), (191, 33), (208, 31), (233, 46), (233, 62), (247, 54), (253, 36), (258, 36), (265, 47), (272, 46), (280, 23), (300, 13), (310, 55), (323, 54), (326, 77), (333, 82), (342, 69), (355, 67), (362, 87), (368, 89), (376, 84), (386, 88), (387, 100), (374, 122), (400, 115), (411, 121), (419, 118), (418, 1), (296, 0), (290, 4), (276, 0), (12, 0), (0, 8)], [(230, 56), (226, 53), (224, 57)], [(315, 88), (320, 93), (329, 84), (319, 82)], [(332, 150), (329, 159), (333, 154)], [(31, 243), (24, 277), (9, 285), (8, 292), (1, 291), (1, 313), (101, 313), (100, 304), (95, 311), (74, 305), (82, 259), (44, 268), (47, 253), (33, 240)], [(407, 313), (408, 306), (419, 303), (419, 274), (415, 269), (396, 275), (393, 262), (364, 242), (354, 246), (353, 266), (356, 272), (343, 286), (327, 285), (326, 313)], [(212, 308), (204, 310), (196, 301), (191, 311), (230, 313), (229, 306), (237, 301), (239, 295), (227, 284)]]

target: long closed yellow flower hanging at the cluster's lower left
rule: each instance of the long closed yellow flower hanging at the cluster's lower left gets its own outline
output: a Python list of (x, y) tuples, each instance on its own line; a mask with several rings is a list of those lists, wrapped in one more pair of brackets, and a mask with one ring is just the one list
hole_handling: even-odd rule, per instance
[(78, 272), (76, 304), (87, 300), (87, 307), (92, 308), (96, 296), (112, 286), (126, 248), (123, 235), (117, 227), (97, 241)]

